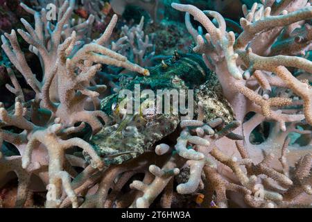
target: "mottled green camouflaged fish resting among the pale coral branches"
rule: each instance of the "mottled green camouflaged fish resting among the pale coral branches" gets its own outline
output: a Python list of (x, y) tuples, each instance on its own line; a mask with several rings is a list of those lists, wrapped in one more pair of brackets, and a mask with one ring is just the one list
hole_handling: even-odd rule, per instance
[[(133, 90), (140, 84), (141, 90), (152, 89), (194, 89), (196, 101), (202, 101), (206, 120), (221, 117), (227, 123), (232, 121), (232, 108), (223, 98), (216, 74), (207, 69), (200, 55), (178, 54), (169, 60), (149, 68), (150, 76), (123, 77), (121, 89)], [(105, 164), (121, 164), (153, 149), (160, 139), (173, 133), (180, 123), (179, 114), (150, 114), (139, 112), (121, 117), (119, 94), (112, 94), (101, 101), (101, 110), (114, 119), (114, 125), (105, 126), (94, 135), (90, 143)]]

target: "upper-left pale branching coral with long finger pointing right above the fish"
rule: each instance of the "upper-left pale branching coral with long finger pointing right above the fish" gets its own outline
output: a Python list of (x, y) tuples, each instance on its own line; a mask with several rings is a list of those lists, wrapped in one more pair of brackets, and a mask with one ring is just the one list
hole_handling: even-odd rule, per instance
[[(107, 26), (103, 35), (94, 43), (86, 44), (80, 49), (77, 48), (76, 31), (73, 31), (71, 37), (60, 43), (62, 28), (68, 22), (72, 12), (72, 8), (68, 8), (68, 6), (69, 2), (65, 1), (58, 13), (58, 23), (55, 28), (50, 32), (46, 30), (45, 33), (43, 31), (44, 24), (46, 23), (48, 27), (51, 25), (50, 22), (44, 21), (45, 10), (42, 10), (41, 13), (34, 12), (24, 6), (26, 10), (32, 11), (35, 15), (35, 29), (25, 20), (22, 20), (21, 22), (23, 22), (28, 33), (22, 30), (18, 30), (18, 32), (40, 57), (42, 68), (44, 69), (42, 83), (35, 78), (35, 75), (26, 64), (26, 59), (19, 49), (15, 31), (12, 31), (10, 35), (6, 34), (6, 37), (1, 37), (2, 47), (11, 62), (36, 92), (36, 100), (42, 100), (43, 108), (53, 112), (53, 117), (59, 117), (65, 126), (73, 126), (78, 121), (85, 121), (92, 126), (94, 133), (96, 133), (102, 126), (97, 117), (101, 117), (105, 121), (107, 121), (107, 117), (100, 111), (85, 110), (87, 97), (96, 100), (96, 97), (99, 95), (98, 92), (105, 90), (105, 86), (89, 85), (96, 71), (101, 68), (101, 65), (93, 65), (93, 63), (125, 67), (132, 71), (138, 71), (141, 74), (148, 74), (148, 71), (128, 62), (125, 57), (118, 53), (101, 46), (110, 37), (112, 28), (116, 24), (116, 16), (113, 17), (112, 22)], [(65, 11), (65, 9), (67, 10)], [(10, 44), (6, 38), (8, 38)], [(49, 41), (46, 41), (48, 39)], [(82, 61), (86, 61), (85, 64)]]

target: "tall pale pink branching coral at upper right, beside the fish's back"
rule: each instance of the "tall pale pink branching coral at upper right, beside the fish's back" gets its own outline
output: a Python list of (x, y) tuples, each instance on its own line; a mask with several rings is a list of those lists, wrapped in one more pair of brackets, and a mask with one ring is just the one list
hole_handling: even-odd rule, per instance
[[(263, 4), (266, 4), (266, 1), (263, 1)], [(269, 76), (272, 76), (272, 73), (276, 74), (286, 83), (286, 87), (292, 89), (295, 94), (302, 98), (305, 106), (304, 114), (309, 122), (311, 115), (309, 114), (309, 89), (306, 89), (307, 85), (304, 85), (305, 83), (299, 83), (299, 80), (292, 77), (286, 71), (286, 67), (295, 67), (311, 72), (311, 62), (295, 56), (272, 56), (269, 50), (272, 44), (279, 41), (279, 37), (286, 32), (288, 26), (296, 22), (302, 22), (304, 19), (311, 19), (311, 6), (309, 3), (302, 1), (300, 6), (300, 8), (296, 8), (293, 12), (287, 14), (285, 10), (293, 10), (293, 8), (291, 8), (292, 6), (285, 6), (285, 15), (271, 15), (269, 6), (264, 8), (264, 6), (258, 6), (257, 3), (254, 3), (250, 12), (245, 8), (245, 18), (241, 19), (243, 32), (236, 38), (233, 32), (227, 32), (225, 19), (218, 12), (202, 12), (191, 5), (173, 3), (173, 8), (187, 12), (187, 28), (193, 37), (196, 37), (197, 42), (194, 51), (202, 53), (207, 66), (216, 71), (218, 79), (223, 85), (225, 97), (233, 105), (236, 119), (243, 120), (245, 114), (253, 110), (247, 104), (245, 98), (237, 92), (236, 85), (238, 83), (248, 84), (248, 79), (255, 71), (268, 71), (270, 72)], [(193, 15), (204, 26), (207, 31), (205, 36), (198, 35), (198, 31), (191, 25), (189, 14)], [(209, 17), (213, 17), (217, 25), (211, 22)], [(272, 35), (273, 31), (275, 31), (274, 35)], [(287, 31), (295, 32), (293, 29)], [(266, 36), (267, 41), (263, 41), (264, 36)], [(286, 36), (284, 35), (284, 37)], [(305, 47), (306, 45), (302, 45), (302, 49), (305, 49)], [(264, 51), (264, 49), (267, 50)], [(261, 82), (263, 83), (263, 81)], [(252, 85), (252, 87), (257, 88), (257, 85)], [(268, 117), (267, 113), (262, 112), (262, 114)]]

